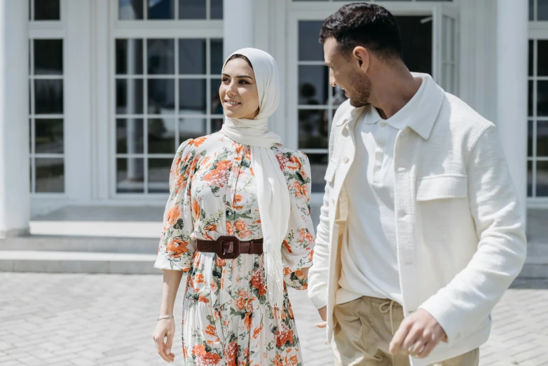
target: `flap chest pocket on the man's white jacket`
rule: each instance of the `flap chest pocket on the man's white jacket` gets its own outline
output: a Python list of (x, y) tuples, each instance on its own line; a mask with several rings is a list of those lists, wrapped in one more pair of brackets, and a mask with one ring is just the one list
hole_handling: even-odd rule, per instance
[(467, 194), (468, 179), (466, 175), (432, 175), (419, 178), (417, 181), (417, 201), (465, 198)]

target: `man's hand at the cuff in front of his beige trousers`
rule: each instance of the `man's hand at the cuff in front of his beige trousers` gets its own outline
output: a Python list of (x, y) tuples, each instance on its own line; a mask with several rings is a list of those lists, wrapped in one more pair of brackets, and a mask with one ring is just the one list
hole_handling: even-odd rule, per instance
[(445, 331), (427, 311), (419, 309), (399, 326), (390, 342), (392, 355), (402, 353), (425, 358), (440, 341), (447, 341)]

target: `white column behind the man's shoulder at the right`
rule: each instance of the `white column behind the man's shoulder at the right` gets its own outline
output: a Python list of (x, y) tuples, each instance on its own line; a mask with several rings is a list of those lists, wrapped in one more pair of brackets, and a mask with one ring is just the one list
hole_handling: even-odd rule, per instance
[(497, 126), (526, 210), (528, 2), (497, 1)]

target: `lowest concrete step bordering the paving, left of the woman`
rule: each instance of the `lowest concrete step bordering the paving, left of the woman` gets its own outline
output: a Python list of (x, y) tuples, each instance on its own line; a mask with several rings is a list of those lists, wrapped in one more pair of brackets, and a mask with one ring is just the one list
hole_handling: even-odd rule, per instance
[(1, 272), (158, 274), (156, 255), (0, 250)]

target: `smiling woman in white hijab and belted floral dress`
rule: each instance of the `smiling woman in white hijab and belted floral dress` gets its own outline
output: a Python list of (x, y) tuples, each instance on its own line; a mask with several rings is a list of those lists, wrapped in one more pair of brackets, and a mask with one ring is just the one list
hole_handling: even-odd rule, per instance
[(181, 144), (172, 165), (154, 264), (164, 285), (153, 338), (173, 361), (173, 306), (187, 272), (186, 365), (302, 365), (285, 285), (306, 289), (312, 265), (310, 165), (268, 131), (280, 98), (273, 57), (254, 48), (233, 53), (219, 97), (222, 130)]

